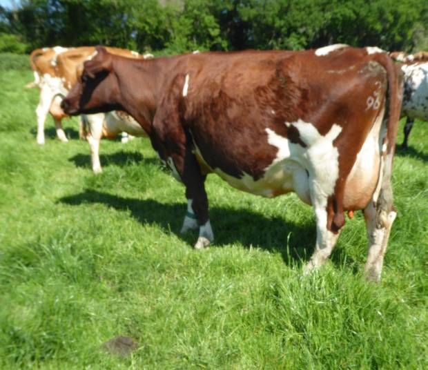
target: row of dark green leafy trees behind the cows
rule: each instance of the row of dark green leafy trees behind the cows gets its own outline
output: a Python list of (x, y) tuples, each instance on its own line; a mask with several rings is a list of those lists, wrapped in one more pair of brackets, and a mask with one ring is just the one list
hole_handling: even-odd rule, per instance
[(0, 51), (103, 44), (191, 50), (428, 49), (427, 0), (22, 0), (0, 7)]

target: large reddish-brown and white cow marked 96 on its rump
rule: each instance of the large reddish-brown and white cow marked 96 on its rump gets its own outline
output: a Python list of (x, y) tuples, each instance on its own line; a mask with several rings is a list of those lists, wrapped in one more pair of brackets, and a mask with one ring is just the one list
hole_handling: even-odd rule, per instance
[(144, 61), (97, 51), (62, 107), (70, 115), (124, 110), (142, 125), (186, 186), (182, 232), (199, 221), (196, 249), (214, 240), (204, 180), (217, 173), (240, 190), (295, 191), (313, 206), (317, 240), (305, 271), (331, 254), (344, 212), (363, 209), (365, 271), (380, 280), (396, 217), (391, 169), (402, 96), (385, 52), (336, 45)]

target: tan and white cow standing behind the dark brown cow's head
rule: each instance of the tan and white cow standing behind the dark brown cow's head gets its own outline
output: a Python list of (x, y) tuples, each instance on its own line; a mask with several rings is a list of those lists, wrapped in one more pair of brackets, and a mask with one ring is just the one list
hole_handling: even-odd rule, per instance
[[(153, 57), (153, 55), (139, 55), (137, 52), (119, 48), (107, 49), (115, 55), (124, 57)], [(66, 115), (59, 104), (77, 81), (84, 61), (91, 59), (95, 54), (95, 47), (84, 46), (80, 48), (43, 48), (35, 50), (30, 55), (32, 69), (35, 72), (35, 83), (33, 84), (40, 88), (39, 106), (36, 110), (37, 142), (39, 144), (44, 143), (43, 128), (48, 112), (55, 119), (59, 139), (63, 142), (68, 141), (61, 127), (61, 119)], [(79, 133), (81, 137), (88, 139), (92, 167), (95, 173), (101, 172), (99, 162), (101, 137), (113, 138), (121, 132), (130, 133), (133, 136), (146, 136), (141, 126), (126, 114), (108, 113), (107, 115), (98, 114), (82, 117)]]

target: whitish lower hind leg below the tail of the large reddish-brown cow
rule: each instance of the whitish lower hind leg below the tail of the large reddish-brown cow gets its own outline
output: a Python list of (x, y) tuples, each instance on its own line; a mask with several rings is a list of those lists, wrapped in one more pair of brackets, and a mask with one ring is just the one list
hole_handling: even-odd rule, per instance
[(391, 226), (396, 215), (394, 211), (389, 212), (389, 214), (381, 211), (380, 214), (377, 215), (373, 202), (370, 202), (364, 209), (367, 237), (369, 238), (369, 254), (367, 255), (367, 262), (364, 266), (364, 273), (367, 279), (374, 282), (380, 282), (383, 257), (387, 251), (389, 233), (391, 232)]

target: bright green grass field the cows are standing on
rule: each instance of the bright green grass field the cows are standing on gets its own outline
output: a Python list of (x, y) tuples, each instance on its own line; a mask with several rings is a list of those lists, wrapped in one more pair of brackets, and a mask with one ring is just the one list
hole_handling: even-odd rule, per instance
[[(309, 277), (313, 211), (214, 175), (215, 244), (179, 235), (184, 187), (148, 140), (101, 142), (66, 121), (36, 144), (29, 71), (0, 71), (0, 369), (428, 369), (428, 124), (398, 151), (398, 217), (381, 284), (362, 276), (362, 214)], [(400, 124), (399, 142), (402, 140)], [(130, 356), (104, 350), (125, 335)]]

